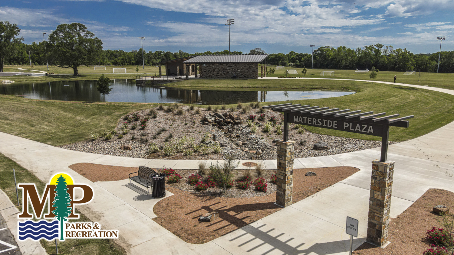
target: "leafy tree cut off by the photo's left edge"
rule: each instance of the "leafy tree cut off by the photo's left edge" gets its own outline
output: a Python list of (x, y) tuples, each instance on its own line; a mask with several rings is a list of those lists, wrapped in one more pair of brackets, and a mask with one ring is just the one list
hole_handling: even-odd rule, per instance
[(14, 56), (17, 47), (24, 40), (22, 37), (17, 37), (19, 33), (17, 24), (0, 21), (0, 72), (3, 72), (5, 60)]

